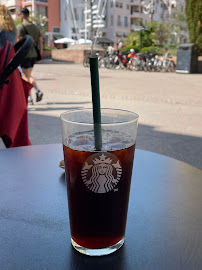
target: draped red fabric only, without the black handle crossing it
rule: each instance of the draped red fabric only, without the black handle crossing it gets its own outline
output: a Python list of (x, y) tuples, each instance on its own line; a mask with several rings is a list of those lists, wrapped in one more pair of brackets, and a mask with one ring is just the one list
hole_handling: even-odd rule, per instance
[[(0, 50), (0, 74), (4, 69), (8, 45), (6, 42)], [(14, 56), (15, 51), (11, 44), (5, 66)], [(31, 145), (28, 135), (27, 97), (33, 85), (22, 80), (18, 68), (8, 80), (9, 83), (0, 89), (0, 137), (7, 148)]]

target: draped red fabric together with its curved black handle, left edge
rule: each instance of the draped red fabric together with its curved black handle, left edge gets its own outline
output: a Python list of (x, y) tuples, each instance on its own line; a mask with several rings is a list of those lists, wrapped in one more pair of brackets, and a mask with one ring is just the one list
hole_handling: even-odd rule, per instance
[(24, 42), (25, 46), (17, 54), (13, 44), (8, 41), (0, 50), (0, 137), (7, 148), (31, 145), (28, 136), (27, 97), (33, 85), (22, 80), (17, 66), (33, 39), (26, 36), (20, 42)]

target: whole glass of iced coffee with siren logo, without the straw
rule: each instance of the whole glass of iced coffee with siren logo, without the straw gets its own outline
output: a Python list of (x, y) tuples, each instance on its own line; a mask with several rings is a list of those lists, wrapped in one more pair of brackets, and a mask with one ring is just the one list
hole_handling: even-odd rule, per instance
[(61, 115), (71, 242), (90, 256), (124, 243), (138, 126), (134, 112), (101, 109), (101, 117), (97, 150), (92, 109)]

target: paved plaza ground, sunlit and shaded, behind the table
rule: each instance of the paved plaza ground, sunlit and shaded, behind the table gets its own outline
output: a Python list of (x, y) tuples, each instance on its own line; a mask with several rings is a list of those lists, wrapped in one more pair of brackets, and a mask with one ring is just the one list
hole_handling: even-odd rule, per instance
[[(202, 74), (99, 72), (101, 106), (140, 115), (137, 148), (202, 169)], [(44, 99), (28, 107), (30, 139), (32, 144), (60, 143), (59, 115), (91, 107), (90, 71), (80, 64), (46, 60), (33, 74)]]

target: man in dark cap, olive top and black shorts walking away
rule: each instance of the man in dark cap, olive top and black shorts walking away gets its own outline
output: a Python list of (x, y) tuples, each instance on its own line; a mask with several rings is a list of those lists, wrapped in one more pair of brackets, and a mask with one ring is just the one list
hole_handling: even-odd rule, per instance
[[(17, 26), (17, 40), (21, 39), (25, 35), (30, 35), (34, 39), (34, 45), (31, 46), (29, 52), (27, 53), (26, 57), (21, 64), (23, 79), (31, 84), (33, 84), (35, 91), (36, 91), (36, 102), (39, 102), (43, 98), (43, 92), (39, 90), (35, 79), (32, 77), (31, 73), (34, 67), (34, 64), (37, 61), (38, 53), (36, 50), (36, 46), (41, 43), (41, 35), (39, 28), (33, 24), (29, 18), (29, 10), (27, 8), (22, 8), (20, 12), (20, 19), (21, 24)], [(40, 46), (40, 44), (39, 44)], [(40, 47), (42, 50), (42, 48)], [(28, 104), (34, 104), (31, 91), (28, 97)]]

